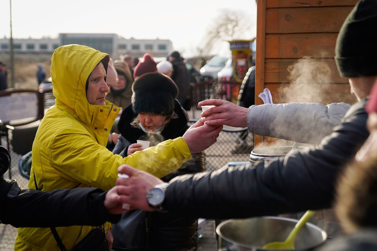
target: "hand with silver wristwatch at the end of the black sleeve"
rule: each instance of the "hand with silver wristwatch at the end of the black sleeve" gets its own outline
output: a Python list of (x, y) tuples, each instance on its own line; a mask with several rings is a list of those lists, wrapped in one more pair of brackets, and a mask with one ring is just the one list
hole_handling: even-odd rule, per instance
[(154, 209), (149, 207), (147, 202), (146, 193), (155, 185), (162, 183), (161, 179), (128, 165), (120, 165), (118, 172), (129, 176), (129, 178), (118, 178), (116, 185), (124, 187), (121, 190), (122, 196), (125, 196), (123, 202), (130, 205), (130, 210), (138, 208), (144, 211), (153, 211)]

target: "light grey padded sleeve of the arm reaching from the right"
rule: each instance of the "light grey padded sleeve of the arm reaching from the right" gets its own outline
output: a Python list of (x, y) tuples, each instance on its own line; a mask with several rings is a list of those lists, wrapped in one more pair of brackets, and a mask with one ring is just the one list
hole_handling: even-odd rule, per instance
[(319, 144), (340, 124), (347, 110), (346, 103), (262, 104), (250, 106), (247, 114), (251, 133), (300, 143)]

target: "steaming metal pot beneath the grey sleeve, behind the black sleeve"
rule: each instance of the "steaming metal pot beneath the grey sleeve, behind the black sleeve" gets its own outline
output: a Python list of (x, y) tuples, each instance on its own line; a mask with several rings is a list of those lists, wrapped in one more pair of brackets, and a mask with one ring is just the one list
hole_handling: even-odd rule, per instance
[[(308, 147), (297, 147), (297, 150), (307, 149)], [(254, 149), (250, 153), (250, 163), (251, 162), (260, 162), (260, 161), (269, 161), (272, 159), (279, 158), (280, 156), (285, 156), (290, 150), (291, 146), (282, 146), (282, 147), (263, 147)]]

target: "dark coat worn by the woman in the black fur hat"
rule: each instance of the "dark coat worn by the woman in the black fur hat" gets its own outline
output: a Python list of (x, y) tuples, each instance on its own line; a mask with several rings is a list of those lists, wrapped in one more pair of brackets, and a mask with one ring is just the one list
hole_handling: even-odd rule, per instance
[[(187, 116), (182, 107), (175, 101), (175, 113), (178, 118), (172, 119), (161, 132), (161, 141), (182, 136), (188, 129)], [(130, 122), (136, 117), (132, 105), (126, 107), (121, 114), (118, 130), (121, 133), (113, 153), (127, 155), (126, 145), (136, 143), (137, 139), (150, 140), (146, 133), (132, 127)], [(193, 159), (184, 163), (178, 170), (162, 178), (170, 179), (183, 174), (193, 174), (205, 170), (204, 153), (192, 155)], [(123, 213), (121, 220), (112, 225), (114, 250), (196, 250), (198, 219), (182, 216), (182, 214), (146, 212), (132, 210)], [(127, 237), (125, 237), (127, 236)]]

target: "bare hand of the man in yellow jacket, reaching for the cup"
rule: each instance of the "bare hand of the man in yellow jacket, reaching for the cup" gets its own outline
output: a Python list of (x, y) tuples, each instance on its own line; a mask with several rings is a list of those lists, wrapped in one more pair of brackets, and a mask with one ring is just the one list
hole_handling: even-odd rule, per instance
[(208, 126), (200, 119), (190, 126), (182, 138), (185, 140), (191, 153), (199, 153), (217, 141), (222, 126)]

